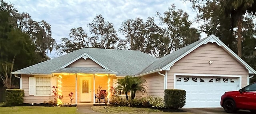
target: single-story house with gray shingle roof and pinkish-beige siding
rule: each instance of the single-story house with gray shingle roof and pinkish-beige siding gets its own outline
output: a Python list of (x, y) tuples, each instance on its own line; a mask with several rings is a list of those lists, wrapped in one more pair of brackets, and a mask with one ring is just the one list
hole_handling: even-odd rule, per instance
[(70, 102), (72, 91), (75, 104), (95, 103), (98, 85), (108, 91), (116, 79), (133, 75), (147, 81), (147, 94), (137, 96), (164, 96), (164, 89), (183, 89), (184, 107), (212, 108), (220, 107), (224, 92), (249, 84), (256, 71), (210, 35), (162, 58), (133, 50), (82, 48), (12, 74), (20, 78), (25, 103), (52, 99), (54, 85), (64, 96), (62, 102)]

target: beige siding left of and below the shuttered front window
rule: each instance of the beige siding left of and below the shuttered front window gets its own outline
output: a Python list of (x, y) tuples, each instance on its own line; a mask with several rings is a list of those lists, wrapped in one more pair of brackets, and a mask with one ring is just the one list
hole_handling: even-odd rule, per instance
[(24, 103), (43, 103), (47, 100), (53, 100), (52, 96), (34, 96), (29, 95), (29, 84), (28, 84), (28, 77), (30, 75), (21, 75), (22, 77), (22, 89), (24, 90)]

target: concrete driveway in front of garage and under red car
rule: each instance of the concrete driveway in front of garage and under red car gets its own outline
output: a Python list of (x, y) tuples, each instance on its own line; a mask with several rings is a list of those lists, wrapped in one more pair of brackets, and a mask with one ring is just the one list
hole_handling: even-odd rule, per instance
[[(229, 114), (224, 111), (223, 108), (182, 108), (186, 112), (191, 112), (194, 114)], [(234, 114), (253, 114), (247, 110), (239, 110)]]

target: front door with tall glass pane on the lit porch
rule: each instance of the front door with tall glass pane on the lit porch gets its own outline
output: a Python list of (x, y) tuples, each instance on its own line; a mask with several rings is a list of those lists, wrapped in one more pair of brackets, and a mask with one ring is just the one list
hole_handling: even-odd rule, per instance
[(92, 78), (80, 78), (80, 102), (92, 101)]

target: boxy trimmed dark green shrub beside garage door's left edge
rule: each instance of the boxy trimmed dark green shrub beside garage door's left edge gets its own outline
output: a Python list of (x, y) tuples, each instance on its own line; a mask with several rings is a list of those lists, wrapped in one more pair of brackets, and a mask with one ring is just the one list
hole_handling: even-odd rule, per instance
[(166, 108), (182, 108), (186, 103), (186, 91), (170, 89), (164, 90), (164, 105)]

